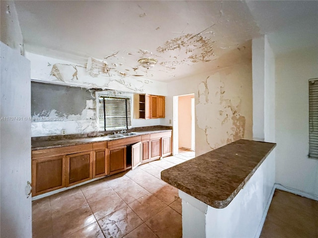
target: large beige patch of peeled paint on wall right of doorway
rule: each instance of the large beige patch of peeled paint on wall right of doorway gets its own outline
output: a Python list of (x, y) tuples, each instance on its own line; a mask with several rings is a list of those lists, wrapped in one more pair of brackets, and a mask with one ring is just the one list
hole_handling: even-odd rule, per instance
[(196, 112), (204, 114), (196, 116), (196, 120), (211, 149), (241, 139), (245, 134), (246, 118), (242, 111), (245, 92), (237, 84), (240, 82), (230, 83), (234, 77), (218, 72), (198, 84)]

